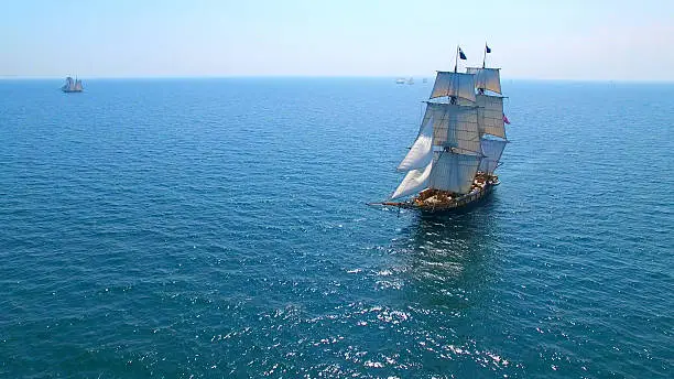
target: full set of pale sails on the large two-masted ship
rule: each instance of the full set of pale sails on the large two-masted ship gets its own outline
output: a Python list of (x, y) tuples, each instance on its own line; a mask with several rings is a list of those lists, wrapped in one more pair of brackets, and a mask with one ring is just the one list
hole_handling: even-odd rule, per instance
[[(476, 94), (477, 89), (477, 94)], [(491, 175), (508, 140), (498, 68), (438, 72), (416, 141), (398, 166), (406, 172), (391, 199), (425, 188), (470, 192), (476, 173)]]

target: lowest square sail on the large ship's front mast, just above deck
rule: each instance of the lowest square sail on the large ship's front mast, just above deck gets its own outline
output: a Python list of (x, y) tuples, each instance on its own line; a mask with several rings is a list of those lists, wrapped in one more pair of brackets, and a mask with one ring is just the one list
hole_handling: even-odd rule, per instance
[(428, 178), (428, 187), (466, 194), (480, 164), (480, 156), (441, 152)]

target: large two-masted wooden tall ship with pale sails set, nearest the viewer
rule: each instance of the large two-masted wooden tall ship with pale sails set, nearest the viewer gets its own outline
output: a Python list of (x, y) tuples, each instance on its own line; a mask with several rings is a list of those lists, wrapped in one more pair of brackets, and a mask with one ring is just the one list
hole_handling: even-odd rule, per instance
[(457, 46), (454, 71), (437, 72), (416, 140), (398, 166), (405, 177), (387, 202), (371, 205), (452, 212), (499, 185), (494, 170), (510, 122), (503, 113), (500, 68), (486, 67), (488, 53), (485, 44), (482, 66), (459, 73), (458, 59), (466, 55)]

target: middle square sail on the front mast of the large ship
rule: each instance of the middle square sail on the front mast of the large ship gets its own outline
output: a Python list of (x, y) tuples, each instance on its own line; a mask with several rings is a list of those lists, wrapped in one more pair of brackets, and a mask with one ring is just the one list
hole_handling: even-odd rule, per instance
[(434, 145), (456, 148), (464, 153), (480, 152), (478, 108), (427, 102), (422, 124), (430, 122), (431, 118), (433, 118)]

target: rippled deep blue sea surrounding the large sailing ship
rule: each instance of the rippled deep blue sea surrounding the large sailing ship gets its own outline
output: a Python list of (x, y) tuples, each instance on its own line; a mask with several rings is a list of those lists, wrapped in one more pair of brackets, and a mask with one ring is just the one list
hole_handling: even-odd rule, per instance
[(377, 209), (432, 84), (0, 82), (0, 377), (672, 377), (674, 85), (509, 82), (501, 185)]

